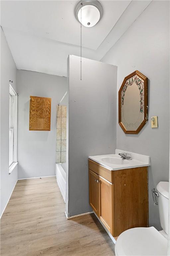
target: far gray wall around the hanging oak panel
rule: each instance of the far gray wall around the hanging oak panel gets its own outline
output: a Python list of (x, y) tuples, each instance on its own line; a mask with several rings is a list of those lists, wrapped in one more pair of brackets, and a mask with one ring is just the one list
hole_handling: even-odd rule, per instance
[[(56, 105), (67, 91), (67, 78), (17, 71), (18, 179), (55, 175)], [(51, 131), (29, 131), (30, 95), (51, 98)]]

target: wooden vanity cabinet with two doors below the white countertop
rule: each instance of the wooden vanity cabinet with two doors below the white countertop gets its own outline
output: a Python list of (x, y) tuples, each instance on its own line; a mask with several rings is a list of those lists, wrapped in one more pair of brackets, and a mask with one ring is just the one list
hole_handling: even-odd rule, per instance
[(148, 227), (148, 170), (110, 171), (89, 159), (89, 201), (112, 236)]

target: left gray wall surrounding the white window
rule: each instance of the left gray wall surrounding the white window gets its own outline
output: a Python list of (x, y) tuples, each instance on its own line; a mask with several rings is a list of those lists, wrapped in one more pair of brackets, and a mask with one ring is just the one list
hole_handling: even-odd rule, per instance
[(17, 166), (9, 175), (9, 80), (17, 93), (17, 69), (4, 33), (1, 30), (1, 84), (0, 84), (0, 215), (17, 181)]

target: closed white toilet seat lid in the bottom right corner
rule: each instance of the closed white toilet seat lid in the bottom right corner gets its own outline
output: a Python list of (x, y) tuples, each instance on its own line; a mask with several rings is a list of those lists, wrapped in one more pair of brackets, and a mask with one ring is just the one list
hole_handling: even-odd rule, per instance
[(118, 237), (115, 251), (118, 256), (164, 256), (168, 241), (154, 227), (131, 228)]

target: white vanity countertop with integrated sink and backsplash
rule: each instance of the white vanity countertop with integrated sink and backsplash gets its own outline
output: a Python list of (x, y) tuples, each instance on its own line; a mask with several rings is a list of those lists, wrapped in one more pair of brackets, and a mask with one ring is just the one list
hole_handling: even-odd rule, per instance
[[(131, 160), (123, 159), (121, 158), (119, 153), (129, 153), (132, 159)], [(142, 167), (142, 166), (150, 166), (149, 156), (136, 154), (133, 152), (128, 152), (120, 149), (116, 149), (115, 154), (89, 156), (89, 159), (97, 162), (98, 164), (103, 165), (104, 167), (106, 167), (111, 171), (128, 169), (128, 168), (136, 168), (136, 167)]]

